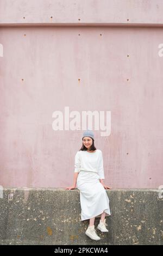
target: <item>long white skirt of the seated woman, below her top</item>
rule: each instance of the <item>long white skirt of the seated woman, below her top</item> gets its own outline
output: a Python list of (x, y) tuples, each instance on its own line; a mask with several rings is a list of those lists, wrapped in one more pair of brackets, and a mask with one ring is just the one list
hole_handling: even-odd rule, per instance
[(93, 217), (110, 216), (109, 198), (105, 188), (99, 181), (96, 172), (80, 170), (77, 178), (77, 188), (80, 191), (81, 220)]

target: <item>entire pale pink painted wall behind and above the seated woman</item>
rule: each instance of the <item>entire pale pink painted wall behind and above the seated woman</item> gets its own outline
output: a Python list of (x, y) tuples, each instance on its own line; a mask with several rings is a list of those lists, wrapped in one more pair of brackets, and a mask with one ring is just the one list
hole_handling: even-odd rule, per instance
[(0, 185), (72, 185), (83, 131), (52, 129), (66, 106), (111, 111), (110, 136), (93, 129), (106, 184), (162, 185), (162, 11), (162, 1), (0, 1)]

